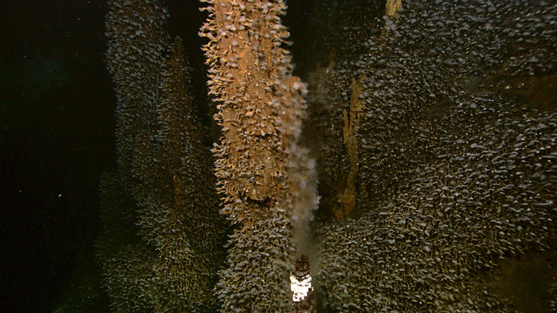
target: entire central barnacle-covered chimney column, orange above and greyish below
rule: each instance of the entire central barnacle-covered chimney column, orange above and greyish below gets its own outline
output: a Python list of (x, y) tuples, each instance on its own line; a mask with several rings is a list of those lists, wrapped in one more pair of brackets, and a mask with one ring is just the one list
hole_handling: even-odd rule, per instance
[[(292, 76), (285, 1), (205, 0), (200, 35), (223, 137), (216, 144), (221, 210), (237, 224), (217, 296), (224, 312), (285, 312), (295, 253), (292, 215), (313, 168), (297, 146), (306, 85)], [(310, 204), (315, 204), (315, 201)], [(310, 209), (311, 205), (305, 207)], [(302, 217), (306, 219), (306, 217)]]

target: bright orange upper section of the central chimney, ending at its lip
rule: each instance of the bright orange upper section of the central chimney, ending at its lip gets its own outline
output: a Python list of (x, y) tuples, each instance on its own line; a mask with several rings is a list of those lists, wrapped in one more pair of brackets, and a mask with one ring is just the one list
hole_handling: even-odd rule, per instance
[(242, 207), (223, 212), (249, 223), (288, 188), (286, 163), (299, 134), (306, 86), (290, 74), (290, 56), (280, 47), (288, 37), (279, 17), (283, 1), (209, 3), (216, 4), (203, 26), (211, 40), (205, 46), (212, 65), (209, 93), (216, 96), (215, 118), (224, 134), (214, 148), (217, 176), (223, 200)]

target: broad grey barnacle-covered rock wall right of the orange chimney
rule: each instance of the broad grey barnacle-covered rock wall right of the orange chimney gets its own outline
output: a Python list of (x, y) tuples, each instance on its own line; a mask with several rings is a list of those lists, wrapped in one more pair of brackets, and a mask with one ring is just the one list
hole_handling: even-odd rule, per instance
[(350, 172), (343, 111), (353, 79), (363, 84), (360, 216), (320, 230), (318, 278), (333, 309), (512, 310), (478, 274), (547, 249), (557, 231), (555, 108), (505, 91), (515, 88), (509, 77), (556, 70), (557, 6), (531, 4), (405, 2), (395, 19), (379, 21), (381, 35), (347, 31), (363, 52), (324, 73), (319, 90), (329, 97), (314, 94), (310, 106), (327, 123), (320, 183), (332, 203)]

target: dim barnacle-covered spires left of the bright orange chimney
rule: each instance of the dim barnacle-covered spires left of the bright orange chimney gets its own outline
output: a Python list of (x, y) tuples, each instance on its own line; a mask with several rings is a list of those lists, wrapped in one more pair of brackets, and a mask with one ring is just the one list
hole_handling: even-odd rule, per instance
[(116, 312), (216, 307), (222, 227), (182, 43), (158, 1), (110, 1), (107, 63), (118, 106), (118, 170), (101, 182), (103, 284)]

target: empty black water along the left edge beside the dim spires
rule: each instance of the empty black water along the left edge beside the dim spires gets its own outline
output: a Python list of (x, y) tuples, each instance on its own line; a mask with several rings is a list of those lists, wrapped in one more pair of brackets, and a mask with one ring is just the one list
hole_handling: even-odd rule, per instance
[(0, 4), (4, 312), (52, 307), (92, 255), (98, 175), (116, 162), (102, 1)]

